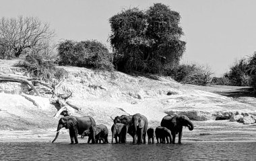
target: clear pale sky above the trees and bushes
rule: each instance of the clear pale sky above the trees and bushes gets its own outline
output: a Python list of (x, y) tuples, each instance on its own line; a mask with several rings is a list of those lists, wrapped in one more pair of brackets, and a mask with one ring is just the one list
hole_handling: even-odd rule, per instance
[(108, 20), (122, 9), (163, 3), (181, 15), (187, 42), (181, 63), (209, 65), (223, 75), (256, 51), (255, 0), (0, 0), (0, 17), (35, 16), (55, 30), (56, 42), (98, 40), (108, 46)]

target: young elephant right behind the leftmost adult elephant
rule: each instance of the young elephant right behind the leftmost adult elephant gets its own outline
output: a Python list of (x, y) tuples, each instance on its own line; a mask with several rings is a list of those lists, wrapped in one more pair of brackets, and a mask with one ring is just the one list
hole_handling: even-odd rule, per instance
[(84, 136), (89, 136), (88, 143), (92, 140), (92, 143), (98, 143), (98, 141), (101, 143), (108, 143), (108, 128), (105, 125), (95, 125), (91, 126), (89, 129), (85, 130), (84, 133), (82, 133), (82, 138)]

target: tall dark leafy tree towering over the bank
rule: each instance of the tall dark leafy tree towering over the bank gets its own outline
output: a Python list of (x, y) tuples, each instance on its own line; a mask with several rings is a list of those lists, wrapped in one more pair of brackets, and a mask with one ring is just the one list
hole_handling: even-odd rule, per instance
[(179, 63), (185, 42), (180, 15), (162, 3), (147, 11), (127, 9), (110, 18), (110, 44), (115, 65), (121, 71), (158, 73), (164, 66)]

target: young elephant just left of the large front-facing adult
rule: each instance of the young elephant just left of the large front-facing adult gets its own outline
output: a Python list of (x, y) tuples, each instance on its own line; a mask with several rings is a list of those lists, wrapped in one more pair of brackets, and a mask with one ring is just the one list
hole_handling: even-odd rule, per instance
[[(113, 126), (111, 127), (111, 131), (112, 131), (111, 143), (113, 143), (114, 137), (115, 137), (116, 143), (125, 143), (126, 142), (127, 126), (125, 124), (123, 124), (123, 123), (113, 124)], [(117, 137), (118, 137), (118, 141), (117, 141)]]

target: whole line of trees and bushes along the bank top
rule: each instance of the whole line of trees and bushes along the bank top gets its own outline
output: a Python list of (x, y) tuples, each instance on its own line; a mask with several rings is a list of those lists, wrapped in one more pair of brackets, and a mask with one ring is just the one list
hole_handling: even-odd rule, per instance
[(124, 9), (109, 19), (108, 40), (113, 48), (109, 52), (97, 40), (63, 40), (55, 44), (55, 31), (38, 18), (1, 18), (0, 59), (22, 57), (18, 66), (45, 81), (66, 77), (67, 71), (56, 65), (69, 65), (167, 75), (184, 84), (256, 86), (256, 54), (234, 63), (223, 77), (213, 77), (207, 66), (181, 65), (186, 42), (181, 40), (180, 20), (177, 11), (162, 3), (145, 11), (137, 7)]

